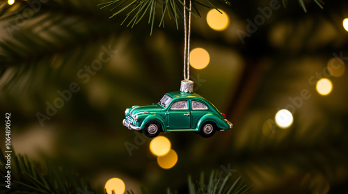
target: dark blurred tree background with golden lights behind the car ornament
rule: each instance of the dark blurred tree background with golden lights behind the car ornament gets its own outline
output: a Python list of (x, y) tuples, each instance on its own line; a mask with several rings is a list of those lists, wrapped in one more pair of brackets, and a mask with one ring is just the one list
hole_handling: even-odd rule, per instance
[(113, 177), (135, 193), (187, 193), (188, 175), (213, 169), (242, 175), (250, 193), (347, 192), (347, 1), (304, 1), (306, 13), (303, 1), (213, 1), (223, 15), (198, 5), (190, 77), (234, 127), (160, 134), (173, 150), (163, 160), (122, 120), (180, 89), (182, 17), (158, 27), (159, 0), (150, 35), (149, 13), (121, 26), (128, 12), (109, 19), (104, 2), (0, 1), (0, 112), (18, 153), (78, 172), (97, 193)]

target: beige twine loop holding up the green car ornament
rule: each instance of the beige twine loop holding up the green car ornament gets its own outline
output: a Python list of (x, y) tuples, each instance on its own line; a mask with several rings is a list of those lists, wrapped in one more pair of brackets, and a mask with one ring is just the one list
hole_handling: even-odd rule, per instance
[(190, 79), (190, 62), (189, 62), (189, 51), (190, 51), (190, 39), (191, 39), (191, 0), (189, 6), (189, 31), (187, 32), (187, 18), (186, 18), (186, 0), (184, 0), (184, 80)]

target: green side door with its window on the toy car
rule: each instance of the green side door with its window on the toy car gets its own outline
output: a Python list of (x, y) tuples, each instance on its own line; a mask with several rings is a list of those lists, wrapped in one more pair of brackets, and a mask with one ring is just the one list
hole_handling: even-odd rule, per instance
[(173, 102), (167, 111), (168, 129), (191, 129), (191, 113), (187, 99)]

